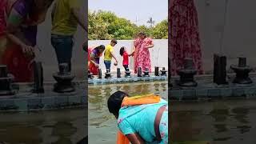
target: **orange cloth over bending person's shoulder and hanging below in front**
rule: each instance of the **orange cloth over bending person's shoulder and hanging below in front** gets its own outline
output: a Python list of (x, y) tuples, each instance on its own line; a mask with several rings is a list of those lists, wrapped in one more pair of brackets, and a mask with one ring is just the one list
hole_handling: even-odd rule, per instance
[[(125, 97), (122, 100), (122, 106), (145, 105), (160, 102), (160, 96), (154, 94), (138, 95), (134, 97)], [(130, 141), (120, 130), (118, 130), (117, 144), (130, 144)]]

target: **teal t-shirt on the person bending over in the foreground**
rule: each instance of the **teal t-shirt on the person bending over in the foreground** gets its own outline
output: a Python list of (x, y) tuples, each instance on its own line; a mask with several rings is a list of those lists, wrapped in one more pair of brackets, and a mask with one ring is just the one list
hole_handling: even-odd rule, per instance
[[(154, 132), (154, 119), (158, 112), (158, 109), (167, 104), (165, 100), (161, 98), (161, 101), (156, 104), (148, 104), (138, 113), (130, 115), (124, 118), (122, 122), (119, 122), (118, 128), (122, 131), (122, 134), (139, 134), (146, 142), (154, 142), (156, 136)], [(130, 110), (138, 109), (138, 106), (129, 106), (128, 108), (121, 108), (119, 114), (129, 113)]]

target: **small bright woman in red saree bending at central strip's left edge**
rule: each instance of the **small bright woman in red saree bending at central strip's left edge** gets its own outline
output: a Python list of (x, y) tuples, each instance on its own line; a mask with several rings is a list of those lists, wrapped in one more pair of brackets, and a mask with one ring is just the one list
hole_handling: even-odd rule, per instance
[(99, 59), (102, 56), (104, 50), (104, 45), (95, 48), (88, 48), (88, 68), (94, 75), (98, 74)]

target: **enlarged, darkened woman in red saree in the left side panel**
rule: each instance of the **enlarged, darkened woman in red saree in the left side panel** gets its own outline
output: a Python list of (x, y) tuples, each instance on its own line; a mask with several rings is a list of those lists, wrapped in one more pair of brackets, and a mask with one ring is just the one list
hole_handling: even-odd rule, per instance
[(53, 0), (10, 0), (6, 6), (6, 50), (2, 62), (15, 82), (33, 80), (33, 59), (37, 26), (44, 22)]

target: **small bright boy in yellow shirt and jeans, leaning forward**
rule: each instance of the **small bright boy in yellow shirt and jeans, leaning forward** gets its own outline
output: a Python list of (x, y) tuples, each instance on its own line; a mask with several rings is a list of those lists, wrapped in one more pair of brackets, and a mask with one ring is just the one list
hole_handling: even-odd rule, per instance
[(111, 67), (111, 61), (112, 58), (114, 58), (115, 60), (115, 65), (118, 65), (118, 59), (114, 56), (114, 46), (117, 44), (117, 40), (112, 39), (110, 44), (106, 46), (106, 50), (104, 53), (104, 63), (106, 66), (106, 70), (110, 71), (110, 67)]

